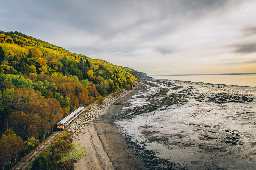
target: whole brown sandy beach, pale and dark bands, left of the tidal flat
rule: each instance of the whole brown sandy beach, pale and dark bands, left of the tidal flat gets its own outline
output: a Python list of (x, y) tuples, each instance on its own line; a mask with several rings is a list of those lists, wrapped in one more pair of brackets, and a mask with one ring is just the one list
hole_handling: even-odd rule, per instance
[(124, 136), (117, 131), (117, 127), (106, 119), (113, 111), (121, 111), (120, 105), (116, 104), (126, 102), (140, 90), (138, 82), (135, 90), (128, 91), (98, 110), (94, 123), (76, 134), (74, 142), (82, 145), (86, 155), (75, 163), (74, 169), (146, 169), (144, 163), (125, 145)]

